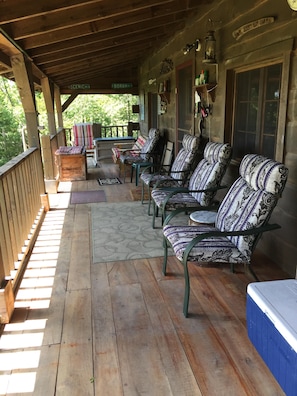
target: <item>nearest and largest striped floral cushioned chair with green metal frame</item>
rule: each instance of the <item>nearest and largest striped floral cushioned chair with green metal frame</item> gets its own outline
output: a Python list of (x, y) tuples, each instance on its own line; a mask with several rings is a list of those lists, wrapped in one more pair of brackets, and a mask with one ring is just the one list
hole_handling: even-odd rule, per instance
[[(184, 266), (185, 316), (190, 295), (188, 261), (230, 263), (233, 271), (236, 263), (250, 264), (263, 232), (280, 228), (277, 224), (269, 225), (268, 221), (285, 187), (288, 169), (279, 162), (248, 154), (240, 164), (239, 173), (218, 209), (214, 226), (167, 224), (181, 209), (165, 220), (163, 273), (166, 274), (170, 245)], [(250, 265), (249, 268), (253, 273)]]

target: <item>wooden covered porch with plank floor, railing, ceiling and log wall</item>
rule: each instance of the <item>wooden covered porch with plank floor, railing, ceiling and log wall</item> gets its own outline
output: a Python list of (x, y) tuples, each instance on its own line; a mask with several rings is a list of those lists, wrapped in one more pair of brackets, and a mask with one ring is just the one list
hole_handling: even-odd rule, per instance
[[(239, 142), (242, 154), (251, 147), (261, 153), (260, 145), (241, 147), (249, 135), (237, 138), (235, 115), (244, 118), (246, 111), (234, 108), (236, 84), (243, 76), (245, 90), (246, 76), (255, 70), (263, 84), (276, 65), (281, 72), (272, 75), (278, 85), (271, 107), (261, 89), (261, 114), (253, 112), (254, 103), (249, 108), (257, 121), (265, 119), (266, 102), (268, 110), (277, 109), (267, 112), (268, 137), (275, 145), (272, 157), (289, 168), (289, 179), (273, 216), (282, 228), (263, 238), (253, 265), (262, 281), (294, 277), (297, 13), (283, 3), (0, 3), (0, 73), (18, 86), (30, 147), (0, 171), (0, 280), (11, 285), (14, 308), (1, 325), (1, 394), (283, 394), (247, 337), (246, 287), (254, 278), (245, 268), (232, 274), (227, 266), (191, 265), (185, 319), (183, 271), (175, 258), (166, 277), (161, 256), (93, 261), (94, 204), (71, 204), (69, 192), (45, 194), (45, 182), (58, 180), (52, 158), (65, 145), (63, 111), (77, 95), (139, 95), (141, 131), (159, 128), (176, 151), (191, 133), (232, 146)], [(205, 66), (206, 51), (198, 48), (212, 28), (216, 58)], [(206, 67), (211, 85), (197, 85)], [(269, 79), (265, 84), (274, 87)], [(40, 155), (34, 90), (44, 94), (50, 163)], [(69, 95), (65, 102), (63, 94)], [(252, 134), (262, 145), (262, 134)], [(231, 164), (235, 171), (240, 150)], [(103, 190), (107, 204), (132, 201), (134, 184), (98, 185), (98, 177), (118, 177), (115, 165), (88, 164), (87, 172), (86, 180), (69, 182), (69, 191)], [(234, 172), (226, 177), (230, 184)]]

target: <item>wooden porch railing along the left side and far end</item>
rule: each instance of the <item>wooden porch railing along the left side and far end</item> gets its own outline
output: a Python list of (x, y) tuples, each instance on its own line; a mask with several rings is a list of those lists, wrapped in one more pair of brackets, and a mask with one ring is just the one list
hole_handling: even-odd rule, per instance
[[(137, 125), (131, 123), (103, 127), (103, 134), (121, 137), (135, 130)], [(66, 144), (61, 129), (55, 136), (42, 136), (41, 149), (30, 148), (0, 167), (0, 283), (11, 278), (14, 291), (44, 217), (46, 182), (58, 179), (55, 151)]]

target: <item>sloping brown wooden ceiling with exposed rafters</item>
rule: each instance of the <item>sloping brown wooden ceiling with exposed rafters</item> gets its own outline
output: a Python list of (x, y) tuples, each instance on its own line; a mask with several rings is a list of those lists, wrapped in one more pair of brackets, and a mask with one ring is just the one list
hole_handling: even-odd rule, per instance
[[(61, 93), (81, 87), (108, 93), (130, 83), (138, 66), (184, 29), (208, 0), (2, 0), (0, 74), (13, 78), (9, 41), (57, 84)], [(34, 70), (34, 68), (33, 68)], [(88, 89), (90, 88), (90, 89)]]

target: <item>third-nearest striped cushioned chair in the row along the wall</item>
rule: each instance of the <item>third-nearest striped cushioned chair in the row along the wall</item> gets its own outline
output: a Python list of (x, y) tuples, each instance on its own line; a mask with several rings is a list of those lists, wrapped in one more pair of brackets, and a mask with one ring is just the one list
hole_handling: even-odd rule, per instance
[(147, 187), (149, 196), (148, 214), (150, 214), (152, 187), (168, 187), (168, 186), (183, 186), (192, 170), (193, 163), (198, 152), (200, 138), (185, 134), (182, 140), (182, 148), (179, 150), (171, 167), (163, 167), (161, 171), (155, 173), (146, 173), (145, 170), (140, 176), (142, 181), (141, 201), (143, 202), (144, 188)]

